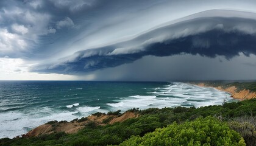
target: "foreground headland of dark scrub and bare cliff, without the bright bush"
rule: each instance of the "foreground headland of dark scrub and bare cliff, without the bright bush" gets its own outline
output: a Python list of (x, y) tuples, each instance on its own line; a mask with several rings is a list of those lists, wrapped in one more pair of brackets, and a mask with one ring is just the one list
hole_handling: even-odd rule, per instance
[[(48, 122), (38, 127), (37, 130), (34, 130), (34, 133), (31, 132), (30, 135), (24, 135), (23, 137), (17, 136), (13, 139), (0, 139), (0, 145), (119, 145), (125, 141), (129, 141), (127, 139), (132, 137), (140, 138), (141, 135), (144, 136), (147, 133), (152, 133), (156, 129), (159, 131), (163, 127), (170, 126), (175, 128), (184, 122), (193, 122), (194, 120), (211, 116), (215, 118), (216, 121), (221, 122), (221, 126), (223, 124), (229, 124), (232, 130), (238, 131), (238, 133), (241, 134), (247, 132), (248, 125), (250, 131), (255, 128), (253, 127), (255, 119), (252, 117), (255, 115), (255, 103), (256, 100), (252, 99), (227, 103), (226, 106), (204, 106), (201, 108), (179, 106), (176, 108), (149, 108), (144, 110), (134, 108), (126, 111), (126, 114), (119, 114), (119, 111), (107, 114), (94, 113), (93, 116), (76, 119), (73, 123), (65, 121)], [(130, 117), (130, 119), (127, 117)], [(215, 121), (207, 121), (208, 123), (212, 123), (216, 128)], [(114, 124), (112, 124), (112, 122)], [(197, 123), (198, 122), (201, 122), (201, 120), (197, 120)], [(70, 131), (67, 129), (68, 126), (75, 125), (80, 126), (77, 127), (79, 131), (76, 127), (69, 127)], [(191, 128), (190, 125), (191, 124), (188, 123), (188, 128)], [(243, 126), (244, 131), (241, 131), (241, 126)], [(48, 128), (51, 130), (48, 131)], [(205, 130), (210, 131), (209, 128), (207, 128), (205, 128)], [(221, 131), (226, 131), (227, 128)], [(184, 128), (180, 131), (183, 131), (183, 129)], [(191, 133), (188, 134), (191, 136)], [(185, 136), (188, 136), (188, 134), (185, 134)], [(225, 135), (229, 135), (229, 133)], [(251, 141), (254, 135), (249, 133), (246, 136), (247, 139), (244, 141), (251, 142), (248, 144), (254, 145), (255, 142)], [(248, 136), (250, 139), (248, 139)], [(180, 136), (177, 137), (179, 138)], [(214, 137), (216, 137), (215, 133)], [(163, 137), (163, 139), (165, 138), (166, 137)]]

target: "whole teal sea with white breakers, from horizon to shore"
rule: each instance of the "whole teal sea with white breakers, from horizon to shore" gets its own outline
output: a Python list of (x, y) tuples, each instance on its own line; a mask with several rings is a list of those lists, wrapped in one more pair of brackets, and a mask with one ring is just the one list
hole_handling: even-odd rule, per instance
[(0, 81), (0, 138), (98, 111), (221, 105), (224, 99), (236, 101), (227, 92), (179, 82)]

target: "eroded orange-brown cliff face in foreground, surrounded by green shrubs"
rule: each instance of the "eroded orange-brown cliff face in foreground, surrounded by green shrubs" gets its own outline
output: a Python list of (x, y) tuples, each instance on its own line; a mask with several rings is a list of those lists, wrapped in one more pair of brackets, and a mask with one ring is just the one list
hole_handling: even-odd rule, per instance
[[(43, 134), (51, 134), (54, 132), (65, 132), (65, 133), (77, 133), (78, 130), (87, 127), (88, 124), (94, 122), (96, 125), (105, 125), (106, 123), (113, 124), (115, 122), (123, 122), (124, 120), (130, 118), (136, 118), (139, 115), (132, 112), (126, 112), (122, 116), (113, 116), (113, 115), (105, 115), (101, 114), (101, 116), (88, 116), (87, 120), (78, 122), (55, 122), (55, 123), (46, 123), (44, 125), (40, 125), (37, 128), (29, 131), (29, 133), (25, 134), (24, 137), (34, 137), (40, 136)], [(104, 120), (110, 119), (108, 122), (103, 123)]]

